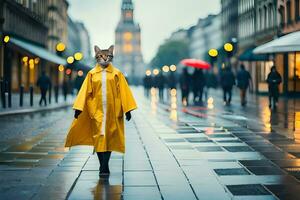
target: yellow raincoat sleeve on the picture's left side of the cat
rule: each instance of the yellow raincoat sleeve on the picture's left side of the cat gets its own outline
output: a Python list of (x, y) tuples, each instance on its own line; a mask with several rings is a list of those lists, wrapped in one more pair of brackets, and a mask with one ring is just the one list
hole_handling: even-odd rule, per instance
[(74, 110), (81, 110), (83, 111), (86, 99), (89, 95), (92, 94), (92, 84), (91, 84), (91, 73), (88, 73), (81, 85), (81, 88), (77, 94), (77, 97), (73, 104)]

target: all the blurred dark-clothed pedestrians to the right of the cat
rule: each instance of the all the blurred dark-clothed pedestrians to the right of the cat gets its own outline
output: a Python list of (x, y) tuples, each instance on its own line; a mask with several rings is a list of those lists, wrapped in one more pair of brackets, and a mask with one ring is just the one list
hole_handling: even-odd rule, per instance
[[(276, 109), (279, 89), (278, 86), (282, 79), (273, 66), (268, 74), (266, 82), (269, 88), (269, 107)], [(181, 101), (184, 106), (191, 104), (190, 93), (192, 93), (192, 104), (203, 105), (209, 97), (211, 90), (221, 88), (223, 91), (224, 105), (230, 105), (232, 99), (232, 90), (234, 86), (239, 89), (241, 106), (247, 104), (247, 92), (252, 93), (253, 83), (250, 73), (241, 64), (234, 73), (231, 67), (225, 67), (219, 74), (213, 70), (193, 69), (190, 73), (188, 68), (183, 68), (181, 74), (176, 72), (158, 73), (157, 75), (146, 74), (143, 78), (145, 96), (149, 97), (151, 88), (158, 89), (158, 96), (161, 102), (164, 102), (165, 90), (177, 89), (181, 91)]]

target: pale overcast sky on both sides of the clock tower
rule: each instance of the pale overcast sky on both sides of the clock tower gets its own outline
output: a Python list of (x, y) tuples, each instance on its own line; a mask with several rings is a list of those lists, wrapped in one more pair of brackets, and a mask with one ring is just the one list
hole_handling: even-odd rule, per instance
[[(91, 44), (108, 48), (120, 20), (122, 0), (69, 0), (69, 15), (84, 22)], [(134, 19), (140, 24), (145, 62), (155, 55), (172, 32), (197, 23), (199, 18), (220, 11), (220, 0), (133, 0)]]

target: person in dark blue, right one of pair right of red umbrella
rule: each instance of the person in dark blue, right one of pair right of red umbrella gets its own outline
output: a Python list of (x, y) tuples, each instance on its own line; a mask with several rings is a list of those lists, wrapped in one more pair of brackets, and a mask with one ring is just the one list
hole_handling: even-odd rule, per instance
[(245, 69), (243, 64), (240, 65), (240, 70), (237, 73), (237, 87), (240, 89), (241, 105), (245, 106), (247, 104), (246, 94), (247, 89), (250, 86), (252, 89), (252, 78), (250, 73)]

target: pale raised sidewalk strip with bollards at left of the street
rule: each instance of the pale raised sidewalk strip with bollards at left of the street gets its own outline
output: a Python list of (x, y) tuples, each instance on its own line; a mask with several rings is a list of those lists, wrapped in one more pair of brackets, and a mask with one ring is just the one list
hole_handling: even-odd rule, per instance
[(20, 96), (19, 94), (13, 93), (12, 94), (12, 106), (11, 108), (8, 107), (6, 102), (6, 108), (2, 107), (2, 104), (0, 105), (0, 116), (6, 116), (6, 115), (14, 115), (14, 114), (25, 114), (25, 113), (31, 113), (31, 112), (38, 112), (38, 111), (47, 111), (47, 110), (53, 110), (58, 108), (64, 108), (67, 106), (70, 106), (73, 103), (74, 97), (72, 95), (67, 96), (67, 101), (64, 101), (64, 97), (60, 95), (58, 97), (58, 103), (55, 102), (54, 95), (51, 98), (51, 104), (49, 104), (49, 96), (47, 93), (47, 106), (39, 105), (40, 101), (40, 94), (34, 94), (33, 96), (33, 106), (30, 106), (30, 96), (28, 93), (24, 94), (24, 102), (23, 106), (20, 107), (19, 101)]

